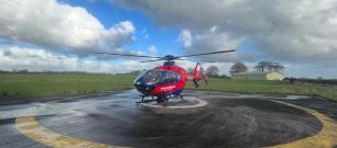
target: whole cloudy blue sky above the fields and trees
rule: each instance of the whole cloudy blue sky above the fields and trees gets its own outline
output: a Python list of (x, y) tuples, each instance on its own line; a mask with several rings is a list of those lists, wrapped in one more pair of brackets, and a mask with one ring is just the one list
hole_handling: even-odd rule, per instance
[[(162, 62), (101, 56), (202, 56), (285, 66), (286, 77), (337, 78), (336, 0), (0, 0), (0, 70), (128, 72)], [(189, 68), (193, 61), (177, 61)]]

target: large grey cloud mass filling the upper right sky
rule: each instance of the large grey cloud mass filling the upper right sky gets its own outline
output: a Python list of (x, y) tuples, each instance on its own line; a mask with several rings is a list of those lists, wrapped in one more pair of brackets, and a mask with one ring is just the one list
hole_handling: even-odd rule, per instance
[[(337, 61), (336, 0), (112, 2), (144, 12), (160, 26), (182, 29), (180, 38), (184, 47), (208, 47), (210, 38), (215, 39), (211, 42), (224, 38), (224, 42), (229, 43), (240, 41), (238, 47), (249, 44), (257, 55), (263, 55), (248, 60), (273, 59), (311, 64)], [(184, 29), (188, 29), (189, 34)], [(193, 36), (188, 36), (191, 32)], [(204, 36), (199, 38), (208, 42), (191, 43), (189, 38), (196, 36)], [(198, 52), (199, 48), (192, 50)], [(244, 49), (240, 52), (244, 53)]]

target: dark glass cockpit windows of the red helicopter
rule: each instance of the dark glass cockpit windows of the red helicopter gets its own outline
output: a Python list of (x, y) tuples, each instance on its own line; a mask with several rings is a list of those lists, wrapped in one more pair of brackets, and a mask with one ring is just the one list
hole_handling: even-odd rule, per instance
[(155, 86), (155, 84), (166, 84), (166, 83), (175, 83), (181, 80), (181, 76), (175, 72), (171, 72), (167, 70), (156, 70), (151, 69), (142, 75), (140, 75), (134, 84), (145, 84), (145, 86)]

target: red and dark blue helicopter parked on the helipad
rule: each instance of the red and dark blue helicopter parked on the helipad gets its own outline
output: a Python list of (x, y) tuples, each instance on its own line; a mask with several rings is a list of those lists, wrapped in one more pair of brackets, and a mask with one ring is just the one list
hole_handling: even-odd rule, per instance
[[(235, 52), (235, 49), (219, 50), (213, 53), (202, 53), (194, 55), (184, 55), (184, 56), (166, 55), (163, 57), (133, 55), (133, 54), (119, 54), (119, 53), (97, 53), (97, 54), (137, 57), (137, 58), (151, 58), (151, 60), (143, 60), (140, 62), (164, 60), (164, 64), (162, 66), (154, 67), (153, 69), (146, 70), (142, 72), (140, 76), (138, 76), (134, 80), (133, 86), (140, 93), (142, 93), (141, 101), (138, 103), (156, 101), (157, 103), (163, 103), (163, 105), (165, 105), (168, 103), (168, 100), (172, 98), (181, 98), (182, 100), (184, 100), (183, 98), (184, 95), (182, 95), (182, 92), (185, 88), (186, 81), (188, 80), (193, 81), (196, 88), (199, 87), (202, 80), (204, 80), (206, 84), (208, 83), (208, 76), (203, 73), (200, 62), (196, 62), (196, 66), (194, 68), (194, 73), (191, 75), (187, 73), (187, 71), (184, 68), (176, 66), (175, 60), (192, 60), (186, 58), (231, 53), (231, 52)], [(198, 61), (205, 61), (205, 60), (198, 60)], [(214, 61), (205, 61), (205, 62), (214, 62)], [(144, 98), (146, 96), (151, 96), (152, 99), (144, 100)]]

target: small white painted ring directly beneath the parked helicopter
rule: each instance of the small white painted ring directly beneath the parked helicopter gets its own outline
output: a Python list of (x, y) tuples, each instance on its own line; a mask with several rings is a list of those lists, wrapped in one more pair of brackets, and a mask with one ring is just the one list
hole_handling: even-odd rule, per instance
[(205, 100), (202, 99), (196, 99), (196, 98), (188, 98), (184, 99), (185, 101), (195, 101), (197, 103), (195, 104), (180, 104), (180, 105), (167, 105), (163, 106), (162, 104), (153, 104), (153, 103), (140, 103), (141, 105), (149, 106), (149, 107), (159, 107), (159, 109), (193, 109), (193, 107), (200, 107), (200, 106), (206, 106), (208, 103)]

